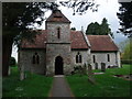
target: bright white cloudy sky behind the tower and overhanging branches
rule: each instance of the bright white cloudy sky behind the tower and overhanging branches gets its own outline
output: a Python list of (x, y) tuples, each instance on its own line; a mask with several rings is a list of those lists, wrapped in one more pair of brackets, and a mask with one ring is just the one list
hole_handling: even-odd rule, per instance
[[(96, 3), (99, 3), (98, 12), (92, 12), (88, 10), (82, 15), (73, 15), (73, 9), (61, 7), (62, 12), (72, 21), (72, 26), (75, 26), (77, 30), (87, 29), (87, 25), (91, 22), (101, 23), (103, 18), (108, 19), (108, 23), (112, 31), (116, 31), (119, 28), (119, 20), (117, 18), (117, 12), (119, 11), (118, 0), (96, 0)], [(46, 13), (46, 16), (50, 16), (51, 12)], [(43, 22), (42, 29), (45, 28), (45, 22)]]

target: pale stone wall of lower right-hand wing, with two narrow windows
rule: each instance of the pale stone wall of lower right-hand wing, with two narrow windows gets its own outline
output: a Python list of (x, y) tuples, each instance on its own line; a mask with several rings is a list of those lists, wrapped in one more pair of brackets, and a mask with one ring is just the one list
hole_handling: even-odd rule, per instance
[[(110, 55), (110, 62), (108, 62), (108, 54)], [(106, 66), (114, 65), (120, 66), (119, 54), (117, 52), (111, 53), (91, 53), (91, 65), (95, 68), (94, 55), (96, 57), (96, 63), (98, 63), (98, 68), (101, 68), (101, 63), (106, 63)], [(117, 56), (118, 55), (118, 56)]]

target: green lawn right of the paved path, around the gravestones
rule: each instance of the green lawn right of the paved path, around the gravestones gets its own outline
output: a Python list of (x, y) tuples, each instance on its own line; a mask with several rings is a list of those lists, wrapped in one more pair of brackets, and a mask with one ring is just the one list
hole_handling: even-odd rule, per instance
[[(130, 65), (123, 65), (122, 68), (107, 69), (106, 74), (95, 75), (96, 85), (88, 81), (88, 76), (73, 75), (66, 79), (75, 97), (130, 97), (130, 82), (123, 78), (113, 77), (113, 75), (128, 75)], [(94, 70), (97, 73), (100, 70)]]

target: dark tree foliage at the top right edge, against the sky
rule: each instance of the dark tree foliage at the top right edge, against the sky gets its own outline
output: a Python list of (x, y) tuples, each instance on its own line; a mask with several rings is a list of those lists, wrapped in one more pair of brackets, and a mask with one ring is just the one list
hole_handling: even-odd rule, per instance
[(132, 2), (120, 2), (120, 12), (117, 13), (121, 25), (119, 32), (132, 36)]

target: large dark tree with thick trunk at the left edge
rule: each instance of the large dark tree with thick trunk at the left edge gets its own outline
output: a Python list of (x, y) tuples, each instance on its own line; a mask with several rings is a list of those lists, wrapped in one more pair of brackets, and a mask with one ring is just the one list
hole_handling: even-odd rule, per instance
[(36, 34), (35, 31), (31, 31), (35, 29), (34, 23), (41, 25), (44, 11), (57, 7), (54, 2), (2, 3), (2, 76), (8, 76), (13, 42), (20, 45), (22, 38), (32, 40)]

